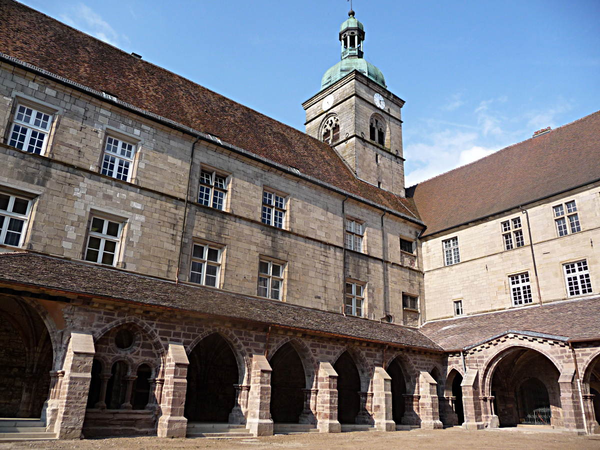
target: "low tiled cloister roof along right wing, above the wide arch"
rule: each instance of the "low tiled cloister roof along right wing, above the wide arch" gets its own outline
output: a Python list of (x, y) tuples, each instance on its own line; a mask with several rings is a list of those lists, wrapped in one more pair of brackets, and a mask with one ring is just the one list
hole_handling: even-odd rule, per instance
[(600, 340), (600, 297), (427, 322), (419, 331), (443, 349), (460, 349), (507, 331)]

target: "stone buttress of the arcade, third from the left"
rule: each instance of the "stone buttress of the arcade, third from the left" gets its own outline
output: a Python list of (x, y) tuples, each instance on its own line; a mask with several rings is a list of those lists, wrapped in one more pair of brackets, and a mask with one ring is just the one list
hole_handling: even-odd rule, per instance
[(271, 365), (265, 355), (252, 356), (247, 427), (254, 436), (272, 436)]

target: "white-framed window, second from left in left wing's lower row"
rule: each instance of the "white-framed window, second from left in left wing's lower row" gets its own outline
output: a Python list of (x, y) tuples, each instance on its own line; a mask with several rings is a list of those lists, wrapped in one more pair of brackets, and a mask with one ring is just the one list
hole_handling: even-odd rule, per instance
[(92, 216), (89, 224), (85, 260), (109, 266), (116, 265), (124, 222)]

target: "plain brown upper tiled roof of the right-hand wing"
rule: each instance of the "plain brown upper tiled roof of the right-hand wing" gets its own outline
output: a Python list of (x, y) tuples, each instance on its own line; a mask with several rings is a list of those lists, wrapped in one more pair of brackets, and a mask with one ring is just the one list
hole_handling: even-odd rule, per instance
[(600, 179), (600, 112), (409, 190), (424, 236)]

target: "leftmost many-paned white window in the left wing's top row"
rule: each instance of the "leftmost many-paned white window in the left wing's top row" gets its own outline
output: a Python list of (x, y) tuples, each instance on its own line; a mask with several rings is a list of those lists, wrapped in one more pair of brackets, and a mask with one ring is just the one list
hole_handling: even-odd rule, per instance
[(8, 145), (38, 155), (46, 151), (53, 115), (17, 104)]

